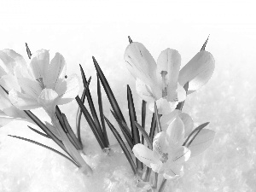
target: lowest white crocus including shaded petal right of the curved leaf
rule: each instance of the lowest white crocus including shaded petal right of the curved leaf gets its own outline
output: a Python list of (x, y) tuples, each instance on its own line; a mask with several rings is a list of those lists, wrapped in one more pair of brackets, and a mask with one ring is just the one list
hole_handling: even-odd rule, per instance
[(193, 143), (183, 146), (190, 132), (189, 116), (183, 113), (172, 120), (166, 131), (161, 131), (154, 137), (153, 150), (137, 144), (132, 151), (138, 160), (154, 172), (163, 174), (166, 179), (182, 177), (185, 161), (208, 148), (214, 138), (214, 131), (205, 129), (195, 137)]

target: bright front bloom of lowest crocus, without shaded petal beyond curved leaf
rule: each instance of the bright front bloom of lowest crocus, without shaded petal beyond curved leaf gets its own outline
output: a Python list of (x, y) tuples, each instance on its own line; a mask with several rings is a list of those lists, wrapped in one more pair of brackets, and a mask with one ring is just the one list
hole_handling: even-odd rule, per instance
[(189, 148), (182, 146), (184, 134), (183, 121), (177, 118), (154, 137), (153, 150), (137, 144), (132, 151), (138, 160), (166, 179), (182, 177), (183, 164), (190, 157)]

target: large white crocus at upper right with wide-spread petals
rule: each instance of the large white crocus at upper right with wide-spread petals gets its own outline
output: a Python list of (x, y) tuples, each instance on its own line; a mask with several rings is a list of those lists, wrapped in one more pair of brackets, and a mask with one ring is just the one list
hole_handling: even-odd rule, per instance
[(206, 84), (214, 70), (211, 53), (201, 50), (180, 71), (181, 55), (175, 49), (165, 49), (160, 53), (157, 64), (148, 49), (141, 43), (131, 43), (125, 49), (125, 63), (136, 79), (136, 90), (154, 111), (171, 113), (178, 102), (186, 98), (184, 84), (189, 82), (187, 94)]

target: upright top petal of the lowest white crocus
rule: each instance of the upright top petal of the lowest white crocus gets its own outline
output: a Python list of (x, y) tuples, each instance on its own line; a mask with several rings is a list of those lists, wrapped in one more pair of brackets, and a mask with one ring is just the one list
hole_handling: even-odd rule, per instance
[(181, 146), (183, 143), (184, 134), (185, 131), (183, 121), (177, 116), (166, 130), (167, 139), (172, 145)]

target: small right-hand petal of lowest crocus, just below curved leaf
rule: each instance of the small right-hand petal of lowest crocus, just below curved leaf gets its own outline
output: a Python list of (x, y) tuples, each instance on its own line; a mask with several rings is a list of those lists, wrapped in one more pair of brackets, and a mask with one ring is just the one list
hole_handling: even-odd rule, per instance
[(187, 160), (189, 160), (191, 151), (189, 148), (186, 148), (184, 146), (181, 146), (176, 149), (176, 151), (172, 154), (172, 162), (178, 164), (183, 163)]

